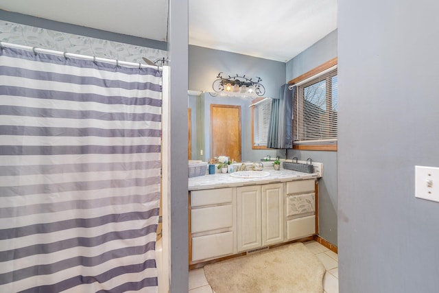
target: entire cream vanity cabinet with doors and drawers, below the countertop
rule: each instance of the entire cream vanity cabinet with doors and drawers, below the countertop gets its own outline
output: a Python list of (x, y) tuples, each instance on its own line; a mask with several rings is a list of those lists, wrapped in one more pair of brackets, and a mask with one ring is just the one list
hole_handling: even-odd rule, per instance
[(189, 263), (314, 235), (315, 183), (310, 178), (191, 190)]

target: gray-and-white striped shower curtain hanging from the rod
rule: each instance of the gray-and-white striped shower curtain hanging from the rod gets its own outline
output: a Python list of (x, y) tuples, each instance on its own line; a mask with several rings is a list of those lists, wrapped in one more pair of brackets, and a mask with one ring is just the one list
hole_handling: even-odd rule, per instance
[(0, 51), (0, 292), (157, 292), (161, 71)]

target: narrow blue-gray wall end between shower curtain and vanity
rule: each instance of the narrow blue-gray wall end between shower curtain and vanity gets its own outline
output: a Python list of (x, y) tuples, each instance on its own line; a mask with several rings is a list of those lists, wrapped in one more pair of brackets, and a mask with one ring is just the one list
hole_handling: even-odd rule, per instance
[[(188, 1), (169, 0), (169, 292), (187, 292), (189, 286), (189, 242), (187, 206), (187, 48)], [(165, 109), (166, 110), (166, 109)], [(166, 215), (164, 215), (166, 216)], [(166, 248), (164, 248), (166, 249)]]

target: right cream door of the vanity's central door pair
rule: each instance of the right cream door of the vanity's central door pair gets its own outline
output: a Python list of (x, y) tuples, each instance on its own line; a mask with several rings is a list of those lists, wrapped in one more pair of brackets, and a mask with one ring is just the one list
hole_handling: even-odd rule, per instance
[(284, 240), (283, 184), (262, 186), (262, 246)]

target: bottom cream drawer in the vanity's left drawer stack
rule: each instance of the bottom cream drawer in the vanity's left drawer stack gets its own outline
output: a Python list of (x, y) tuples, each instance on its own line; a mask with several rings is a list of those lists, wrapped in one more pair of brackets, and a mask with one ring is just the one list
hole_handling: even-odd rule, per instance
[(192, 261), (233, 255), (233, 232), (192, 237)]

